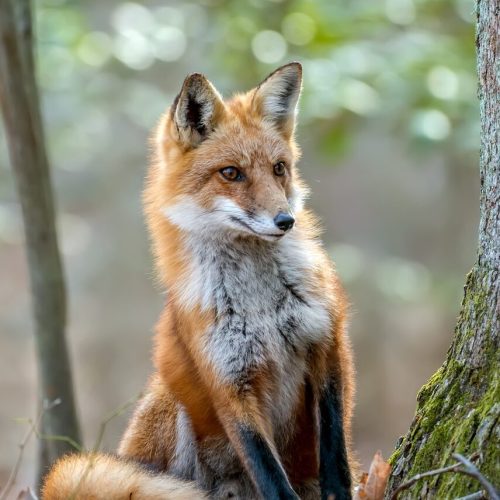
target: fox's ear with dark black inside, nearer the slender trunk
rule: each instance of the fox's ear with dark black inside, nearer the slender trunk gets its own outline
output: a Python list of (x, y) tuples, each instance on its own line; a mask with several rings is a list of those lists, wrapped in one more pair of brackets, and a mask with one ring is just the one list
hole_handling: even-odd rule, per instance
[(224, 112), (215, 87), (200, 73), (189, 75), (172, 105), (172, 118), (179, 140), (196, 147), (214, 130)]

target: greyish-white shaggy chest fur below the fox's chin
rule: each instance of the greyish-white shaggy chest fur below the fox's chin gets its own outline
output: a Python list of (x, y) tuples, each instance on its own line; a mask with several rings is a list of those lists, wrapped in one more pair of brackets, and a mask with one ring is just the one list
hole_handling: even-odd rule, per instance
[[(187, 303), (213, 308), (216, 322), (205, 354), (221, 381), (245, 390), (263, 366), (278, 394), (273, 405), (286, 420), (306, 368), (309, 347), (328, 335), (330, 317), (313, 290), (310, 252), (287, 235), (279, 242), (251, 238), (190, 243), (193, 266), (184, 283)], [(280, 400), (283, 403), (280, 403)]]

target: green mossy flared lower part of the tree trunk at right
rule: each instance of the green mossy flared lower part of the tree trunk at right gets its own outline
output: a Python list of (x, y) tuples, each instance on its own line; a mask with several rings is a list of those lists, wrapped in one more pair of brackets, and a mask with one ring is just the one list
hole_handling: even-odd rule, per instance
[[(493, 331), (492, 321), (485, 321), (481, 349), (470, 356), (477, 332), (467, 327), (479, 317), (489, 317), (494, 293), (485, 286), (489, 281), (479, 267), (468, 276), (455, 341), (447, 360), (420, 390), (411, 428), (391, 457), (394, 471), (390, 490), (415, 474), (454, 462), (454, 452), (468, 456), (479, 451), (477, 465), (482, 473), (491, 479), (500, 477), (498, 332)], [(472, 478), (443, 474), (418, 482), (401, 498), (454, 498), (479, 489)]]

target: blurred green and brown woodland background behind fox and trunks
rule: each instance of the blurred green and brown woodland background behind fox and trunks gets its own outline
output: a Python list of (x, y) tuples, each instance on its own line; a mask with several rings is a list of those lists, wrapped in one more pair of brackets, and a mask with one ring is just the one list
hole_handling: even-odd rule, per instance
[[(355, 435), (387, 455), (440, 365), (478, 223), (473, 0), (35, 2), (69, 333), (86, 443), (150, 372), (146, 139), (184, 76), (226, 95), (304, 66), (301, 168), (353, 306)], [(0, 141), (4, 141), (0, 134)], [(35, 413), (20, 210), (0, 142), (0, 479)], [(22, 367), (14, 369), (14, 367)], [(126, 417), (104, 446), (114, 449)], [(34, 461), (24, 474), (30, 480)]]

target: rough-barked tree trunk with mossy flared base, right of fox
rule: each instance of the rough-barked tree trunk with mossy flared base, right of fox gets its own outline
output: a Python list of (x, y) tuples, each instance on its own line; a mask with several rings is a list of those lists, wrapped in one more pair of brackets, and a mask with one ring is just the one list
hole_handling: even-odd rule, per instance
[[(500, 477), (500, 131), (499, 3), (477, 2), (477, 62), (481, 111), (481, 219), (478, 258), (467, 277), (452, 345), (443, 366), (417, 396), (416, 416), (391, 458), (387, 492), (411, 476), (454, 462), (453, 452), (479, 452), (476, 465)], [(422, 480), (399, 498), (454, 498), (481, 490), (474, 479), (443, 474)]]

